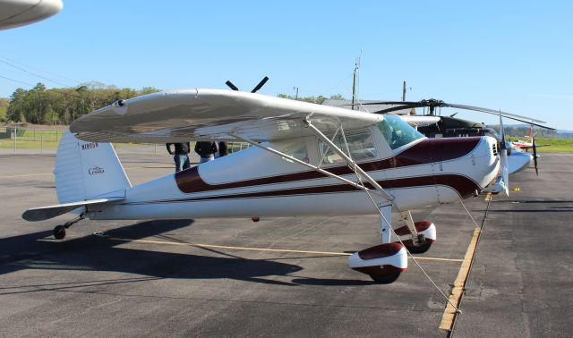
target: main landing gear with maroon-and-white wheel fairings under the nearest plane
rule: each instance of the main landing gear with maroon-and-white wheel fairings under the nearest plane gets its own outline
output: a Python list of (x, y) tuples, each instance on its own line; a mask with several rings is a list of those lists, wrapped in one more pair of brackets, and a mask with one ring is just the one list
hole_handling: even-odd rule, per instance
[(402, 245), (386, 222), (392, 219), (391, 205), (381, 206), (380, 209), (382, 244), (356, 252), (348, 258), (348, 265), (370, 275), (374, 282), (386, 284), (395, 282), (402, 271), (406, 270), (406, 249), (411, 253), (423, 253), (430, 249), (436, 241), (436, 227), (429, 221), (415, 223), (409, 211), (402, 212), (402, 220), (406, 225), (394, 231), (404, 243)]

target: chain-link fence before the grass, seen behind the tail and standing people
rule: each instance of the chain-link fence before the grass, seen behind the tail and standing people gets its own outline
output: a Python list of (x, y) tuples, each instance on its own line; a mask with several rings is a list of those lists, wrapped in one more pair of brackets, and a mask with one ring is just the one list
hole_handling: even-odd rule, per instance
[[(21, 127), (0, 128), (0, 154), (56, 154), (57, 146), (66, 130), (27, 129)], [(165, 156), (165, 144), (153, 143), (113, 143), (117, 154), (149, 154)], [(194, 143), (192, 143), (192, 147)], [(229, 153), (234, 153), (250, 145), (244, 142), (229, 142)], [(167, 154), (168, 155), (168, 154)], [(191, 161), (199, 162), (199, 156), (192, 151)]]

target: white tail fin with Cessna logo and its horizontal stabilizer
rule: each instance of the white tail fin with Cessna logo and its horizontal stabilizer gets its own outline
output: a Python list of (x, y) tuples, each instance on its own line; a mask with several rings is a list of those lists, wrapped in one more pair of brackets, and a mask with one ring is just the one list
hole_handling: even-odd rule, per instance
[(132, 187), (110, 143), (85, 142), (70, 131), (57, 148), (54, 176), (60, 204), (30, 208), (22, 218), (42, 221), (78, 207), (122, 200)]

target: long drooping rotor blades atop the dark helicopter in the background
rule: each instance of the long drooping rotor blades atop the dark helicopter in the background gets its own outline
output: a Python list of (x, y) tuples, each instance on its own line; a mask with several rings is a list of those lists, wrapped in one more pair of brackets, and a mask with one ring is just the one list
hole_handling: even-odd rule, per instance
[[(503, 117), (509, 118), (511, 120), (516, 120), (516, 121), (519, 121), (522, 123), (532, 124), (532, 125), (535, 125), (537, 127), (554, 130), (554, 128), (547, 127), (547, 126), (544, 126), (541, 124), (537, 124), (537, 123), (546, 123), (546, 122), (541, 121), (541, 120), (532, 119), (530, 117), (521, 116), (521, 115), (517, 115), (517, 114), (510, 114), (510, 113), (501, 112), (501, 111), (488, 109), (488, 108), (483, 108), (481, 106), (467, 106), (467, 105), (450, 104), (450, 103), (446, 103), (442, 100), (437, 100), (435, 98), (424, 99), (422, 101), (378, 101), (378, 102), (362, 103), (361, 105), (362, 106), (395, 105), (395, 106), (391, 106), (389, 108), (378, 110), (376, 112), (372, 112), (374, 114), (386, 114), (386, 113), (395, 112), (397, 110), (408, 109), (408, 108), (429, 107), (430, 108), (430, 114), (433, 115), (436, 107), (458, 108), (458, 109), (464, 109), (464, 110), (471, 110), (471, 111), (475, 111), (475, 112), (482, 112), (485, 114), (495, 114), (495, 115), (500, 114), (500, 115), (503, 115)], [(346, 105), (346, 106), (348, 106), (348, 105)], [(352, 106), (352, 105), (349, 105), (349, 106)]]

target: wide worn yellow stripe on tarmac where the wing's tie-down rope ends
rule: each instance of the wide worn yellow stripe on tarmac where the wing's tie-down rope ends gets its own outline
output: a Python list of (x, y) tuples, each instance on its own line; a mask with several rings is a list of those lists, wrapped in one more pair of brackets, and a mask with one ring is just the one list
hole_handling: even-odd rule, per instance
[[(469, 275), (469, 269), (474, 261), (475, 249), (477, 248), (477, 241), (479, 240), (481, 233), (482, 231), (480, 229), (475, 229), (472, 241), (469, 242), (466, 256), (464, 257), (462, 266), (459, 268), (458, 277), (456, 277), (456, 282), (454, 282), (454, 287), (449, 295), (448, 306), (441, 317), (440, 329), (442, 330), (451, 331), (452, 325), (454, 325), (454, 319), (457, 315), (456, 308), (459, 307), (459, 301), (461, 300), (462, 293), (466, 287), (467, 276)], [(454, 304), (456, 308), (454, 308), (452, 304)]]

